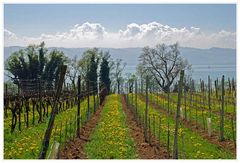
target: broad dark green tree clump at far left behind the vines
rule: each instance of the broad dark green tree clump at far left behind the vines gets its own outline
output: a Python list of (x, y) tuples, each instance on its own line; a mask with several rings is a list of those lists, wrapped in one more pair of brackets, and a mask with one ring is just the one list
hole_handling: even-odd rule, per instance
[(47, 51), (42, 42), (12, 53), (5, 62), (5, 69), (13, 83), (20, 85), (20, 80), (41, 79), (52, 88), (57, 81), (58, 67), (66, 62), (67, 57), (56, 49)]

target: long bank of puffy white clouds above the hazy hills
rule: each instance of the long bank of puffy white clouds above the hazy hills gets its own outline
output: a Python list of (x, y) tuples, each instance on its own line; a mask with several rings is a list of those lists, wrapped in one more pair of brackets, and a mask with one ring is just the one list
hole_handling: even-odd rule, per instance
[(98, 23), (86, 22), (76, 24), (67, 32), (56, 34), (41, 34), (39, 37), (19, 37), (4, 29), (5, 46), (45, 41), (48, 46), (62, 47), (143, 47), (157, 43), (172, 44), (176, 41), (180, 46), (210, 48), (236, 48), (236, 33), (225, 30), (207, 34), (198, 27), (174, 28), (158, 22), (148, 24), (131, 23), (125, 29), (110, 33)]

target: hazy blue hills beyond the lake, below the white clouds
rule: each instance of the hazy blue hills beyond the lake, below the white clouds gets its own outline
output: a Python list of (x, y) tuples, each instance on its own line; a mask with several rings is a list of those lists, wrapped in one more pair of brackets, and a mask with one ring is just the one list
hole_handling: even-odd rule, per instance
[[(4, 47), (4, 60), (6, 60), (13, 52), (23, 49), (24, 47), (11, 46)], [(63, 51), (68, 57), (80, 57), (88, 48), (62, 48), (50, 47)], [(128, 65), (136, 65), (138, 57), (142, 52), (142, 48), (101, 48), (103, 51), (109, 51), (111, 56), (121, 58)], [(181, 55), (186, 58), (189, 63), (193, 65), (235, 65), (236, 64), (236, 49), (226, 48), (210, 48), (210, 49), (197, 49), (180, 47)]]

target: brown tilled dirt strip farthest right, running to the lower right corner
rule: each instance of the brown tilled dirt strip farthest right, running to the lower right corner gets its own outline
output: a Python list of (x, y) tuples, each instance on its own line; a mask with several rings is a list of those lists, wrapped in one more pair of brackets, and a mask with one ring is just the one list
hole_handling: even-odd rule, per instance
[[(143, 100), (143, 97), (140, 97), (141, 100)], [(167, 114), (167, 111), (165, 109), (162, 109), (158, 104), (156, 104), (153, 101), (149, 101), (149, 104), (153, 107), (153, 108), (158, 108), (156, 110), (160, 111), (163, 114)], [(170, 113), (171, 118), (175, 117), (174, 113)], [(233, 153), (236, 156), (236, 148), (234, 145), (234, 142), (231, 140), (225, 140), (225, 141), (218, 141), (219, 137), (218, 134), (216, 132), (212, 133), (212, 136), (209, 137), (207, 130), (204, 130), (202, 127), (200, 127), (199, 125), (196, 125), (196, 123), (194, 121), (188, 122), (186, 120), (181, 121), (183, 123), (183, 125), (186, 128), (191, 129), (193, 132), (198, 133), (202, 138), (208, 140), (210, 143), (215, 144), (217, 146), (219, 146), (220, 148), (223, 148), (225, 150), (230, 151), (231, 153)]]

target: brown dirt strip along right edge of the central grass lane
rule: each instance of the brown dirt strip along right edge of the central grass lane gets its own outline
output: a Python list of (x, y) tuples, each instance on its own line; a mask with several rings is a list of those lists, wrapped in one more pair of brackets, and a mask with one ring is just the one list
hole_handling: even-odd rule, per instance
[(144, 133), (141, 126), (136, 122), (135, 117), (130, 108), (127, 107), (126, 99), (121, 96), (123, 111), (126, 115), (127, 124), (130, 129), (130, 134), (134, 139), (140, 159), (166, 159), (168, 158), (167, 150), (160, 146), (151, 135), (151, 144), (145, 143)]

